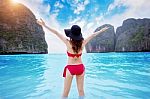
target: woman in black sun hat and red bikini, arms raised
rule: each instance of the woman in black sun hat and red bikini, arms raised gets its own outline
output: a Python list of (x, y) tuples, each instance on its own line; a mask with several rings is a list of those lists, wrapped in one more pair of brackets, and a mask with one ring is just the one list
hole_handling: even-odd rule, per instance
[(84, 74), (85, 74), (84, 72), (85, 68), (81, 60), (83, 48), (92, 38), (94, 38), (99, 33), (104, 32), (108, 28), (105, 27), (100, 31), (93, 33), (91, 36), (89, 36), (87, 39), (84, 40), (82, 37), (81, 28), (78, 25), (73, 25), (71, 29), (64, 30), (66, 36), (70, 38), (68, 40), (66, 37), (61, 35), (56, 30), (48, 27), (42, 19), (40, 19), (40, 21), (37, 21), (37, 23), (47, 28), (56, 36), (58, 36), (65, 43), (67, 47), (68, 63), (63, 73), (63, 77), (65, 77), (64, 90), (62, 94), (63, 99), (68, 97), (74, 75), (76, 75), (79, 98), (83, 98), (84, 97)]

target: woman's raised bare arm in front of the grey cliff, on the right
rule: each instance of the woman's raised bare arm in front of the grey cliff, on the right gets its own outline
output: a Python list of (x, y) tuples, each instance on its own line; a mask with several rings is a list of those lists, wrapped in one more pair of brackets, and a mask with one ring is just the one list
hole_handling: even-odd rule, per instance
[(91, 34), (89, 37), (87, 37), (85, 40), (84, 40), (84, 45), (86, 45), (92, 38), (96, 37), (98, 34), (106, 31), (108, 29), (108, 27), (104, 27), (102, 28), (101, 30), (97, 31), (97, 32), (94, 32), (93, 34)]

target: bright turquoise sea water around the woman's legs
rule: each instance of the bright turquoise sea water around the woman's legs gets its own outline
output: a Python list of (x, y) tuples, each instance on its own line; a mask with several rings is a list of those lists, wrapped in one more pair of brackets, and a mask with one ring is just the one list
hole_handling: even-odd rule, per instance
[[(150, 53), (83, 54), (85, 99), (150, 99)], [(0, 56), (0, 99), (60, 99), (65, 54)], [(78, 99), (73, 80), (69, 99)]]

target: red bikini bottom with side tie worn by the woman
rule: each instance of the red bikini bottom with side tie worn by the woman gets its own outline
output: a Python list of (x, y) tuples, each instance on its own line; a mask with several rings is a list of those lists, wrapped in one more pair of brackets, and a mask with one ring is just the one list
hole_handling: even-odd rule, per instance
[(77, 65), (67, 65), (64, 68), (64, 73), (63, 73), (63, 77), (66, 77), (66, 70), (69, 70), (69, 72), (71, 73), (71, 75), (81, 75), (84, 70), (85, 67), (83, 64), (77, 64)]

